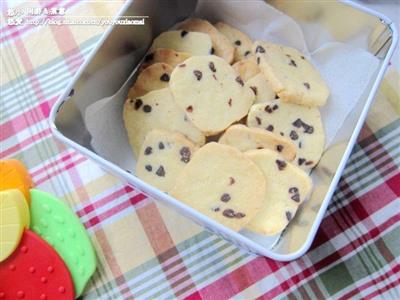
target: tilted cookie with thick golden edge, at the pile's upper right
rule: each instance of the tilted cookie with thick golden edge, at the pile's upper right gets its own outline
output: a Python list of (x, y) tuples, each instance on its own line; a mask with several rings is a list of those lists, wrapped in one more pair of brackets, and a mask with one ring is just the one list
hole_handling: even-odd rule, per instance
[(282, 101), (322, 106), (329, 90), (317, 69), (298, 50), (257, 41), (253, 52), (261, 72)]

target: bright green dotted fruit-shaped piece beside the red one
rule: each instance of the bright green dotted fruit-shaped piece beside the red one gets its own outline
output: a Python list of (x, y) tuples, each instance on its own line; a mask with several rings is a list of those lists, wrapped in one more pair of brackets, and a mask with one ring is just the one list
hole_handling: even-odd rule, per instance
[(64, 259), (79, 297), (96, 269), (96, 257), (78, 217), (54, 196), (31, 189), (31, 228)]

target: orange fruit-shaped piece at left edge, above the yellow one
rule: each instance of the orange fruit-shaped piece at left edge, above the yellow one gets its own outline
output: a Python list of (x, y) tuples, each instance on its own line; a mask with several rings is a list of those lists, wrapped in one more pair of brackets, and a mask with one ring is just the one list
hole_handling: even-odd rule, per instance
[(33, 188), (32, 178), (25, 166), (16, 159), (0, 161), (0, 190), (18, 189), (30, 202), (29, 189)]

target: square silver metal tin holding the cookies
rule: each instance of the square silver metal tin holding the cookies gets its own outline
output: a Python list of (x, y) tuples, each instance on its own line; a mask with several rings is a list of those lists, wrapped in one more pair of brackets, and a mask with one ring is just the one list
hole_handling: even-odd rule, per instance
[(318, 179), (314, 180), (313, 194), (300, 207), (294, 220), (273, 246), (268, 238), (263, 240), (251, 234), (237, 233), (216, 223), (102, 158), (91, 147), (91, 136), (83, 122), (81, 112), (95, 101), (115, 94), (140, 63), (152, 39), (193, 14), (196, 0), (128, 1), (119, 16), (149, 16), (146, 25), (108, 28), (53, 106), (50, 121), (57, 139), (124, 182), (249, 252), (279, 261), (290, 261), (303, 255), (311, 246), (382, 81), (397, 43), (397, 32), (394, 24), (385, 16), (351, 2), (276, 0), (268, 3), (294, 19), (302, 28), (306, 41), (307, 38), (312, 40), (310, 28), (323, 27), (333, 42), (362, 48), (379, 59), (373, 80), (338, 133), (341, 143), (325, 151), (313, 171)]

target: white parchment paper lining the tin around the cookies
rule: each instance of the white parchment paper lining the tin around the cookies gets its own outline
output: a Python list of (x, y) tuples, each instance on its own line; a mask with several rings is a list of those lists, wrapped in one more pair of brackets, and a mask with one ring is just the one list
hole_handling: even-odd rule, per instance
[[(320, 71), (330, 88), (326, 106), (321, 108), (329, 147), (344, 121), (365, 92), (378, 69), (379, 61), (363, 49), (330, 41), (326, 32), (315, 28), (316, 38), (326, 40), (309, 53), (303, 32), (290, 17), (264, 1), (200, 1), (196, 16), (211, 22), (224, 21), (253, 40), (265, 40), (295, 47), (304, 52)], [(135, 159), (130, 150), (122, 120), (122, 107), (132, 76), (112, 97), (99, 99), (84, 112), (92, 135), (92, 146), (103, 158), (134, 172)]]

